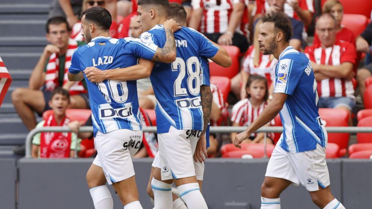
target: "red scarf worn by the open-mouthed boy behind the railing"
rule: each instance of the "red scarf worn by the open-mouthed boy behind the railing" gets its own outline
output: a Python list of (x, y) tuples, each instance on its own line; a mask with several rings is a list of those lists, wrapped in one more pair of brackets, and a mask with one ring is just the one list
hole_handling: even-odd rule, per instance
[[(61, 124), (57, 123), (54, 114), (45, 120), (46, 126), (67, 126), (70, 119), (66, 116)], [(42, 132), (40, 136), (41, 158), (66, 158), (70, 157), (71, 132)]]

